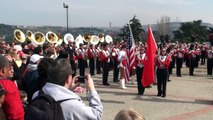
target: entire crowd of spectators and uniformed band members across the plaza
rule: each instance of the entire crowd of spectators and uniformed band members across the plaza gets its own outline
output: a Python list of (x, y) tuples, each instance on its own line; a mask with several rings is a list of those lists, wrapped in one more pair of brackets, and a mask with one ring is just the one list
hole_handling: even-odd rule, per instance
[[(6, 119), (23, 120), (26, 106), (39, 95), (40, 90), (56, 101), (67, 100), (61, 103), (66, 119), (101, 119), (103, 106), (91, 76), (102, 74), (104, 86), (109, 86), (109, 81), (120, 82), (120, 88), (127, 89), (126, 46), (126, 42), (114, 42), (98, 45), (80, 44), (77, 48), (75, 42), (60, 46), (50, 43), (36, 46), (30, 42), (20, 45), (0, 40), (0, 104)], [(141, 79), (146, 59), (146, 44), (137, 43), (135, 53), (131, 80), (133, 84), (137, 80), (138, 95), (143, 95), (145, 87)], [(173, 74), (173, 68), (176, 67), (177, 77), (182, 77), (181, 68), (185, 63), (189, 68), (189, 75), (193, 76), (194, 69), (206, 64), (206, 60), (207, 75), (212, 75), (213, 47), (211, 45), (158, 44), (154, 63), (157, 96), (166, 97), (167, 82), (170, 80), (169, 75)], [(89, 74), (85, 72), (86, 67), (89, 67)], [(113, 71), (112, 81), (108, 80), (110, 70)], [(79, 86), (76, 81), (86, 84), (89, 90), (87, 96), (89, 106), (85, 106), (76, 94)], [(75, 110), (68, 109), (70, 107)]]

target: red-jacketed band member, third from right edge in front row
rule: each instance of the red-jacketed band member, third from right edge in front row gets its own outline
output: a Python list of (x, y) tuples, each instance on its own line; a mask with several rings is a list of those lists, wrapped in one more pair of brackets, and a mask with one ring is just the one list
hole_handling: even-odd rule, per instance
[(194, 75), (195, 61), (196, 61), (197, 52), (194, 50), (194, 45), (191, 45), (189, 48), (189, 75)]

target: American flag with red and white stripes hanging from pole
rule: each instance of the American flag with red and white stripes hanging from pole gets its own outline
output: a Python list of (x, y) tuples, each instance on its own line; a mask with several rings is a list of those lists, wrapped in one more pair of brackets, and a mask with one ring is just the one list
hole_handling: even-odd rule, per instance
[(125, 69), (125, 80), (129, 81), (130, 72), (135, 62), (135, 40), (132, 34), (130, 24), (129, 24), (129, 30), (128, 30), (126, 54), (127, 54), (127, 59), (126, 59), (127, 62), (126, 62), (126, 69)]

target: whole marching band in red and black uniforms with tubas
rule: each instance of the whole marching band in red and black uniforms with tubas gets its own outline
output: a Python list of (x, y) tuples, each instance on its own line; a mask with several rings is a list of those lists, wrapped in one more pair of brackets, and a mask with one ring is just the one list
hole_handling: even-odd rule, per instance
[[(27, 37), (20, 30), (14, 31), (16, 45), (6, 46), (5, 41), (0, 43), (0, 53), (6, 54), (11, 48), (30, 56), (32, 52), (42, 46), (41, 54), (44, 57), (57, 59), (61, 51), (68, 54), (70, 64), (72, 66), (72, 75), (85, 76), (86, 63), (89, 61), (89, 72), (91, 75), (102, 74), (102, 84), (110, 85), (108, 80), (109, 71), (113, 68), (113, 82), (120, 82), (120, 88), (126, 89), (125, 67), (126, 67), (126, 43), (113, 42), (111, 36), (104, 39), (103, 34), (98, 36), (78, 36), (76, 40), (71, 34), (66, 34), (64, 40), (58, 37), (54, 32), (48, 32), (44, 36), (41, 32), (32, 33), (27, 31)], [(27, 42), (25, 41), (27, 40)], [(45, 41), (45, 39), (47, 41)], [(60, 40), (59, 40), (60, 39)], [(29, 42), (30, 41), (30, 42)], [(86, 42), (86, 43), (85, 43)], [(112, 44), (113, 43), (113, 44)], [(19, 44), (22, 44), (19, 46)], [(177, 77), (182, 77), (181, 68), (186, 63), (189, 68), (189, 75), (194, 75), (194, 69), (198, 67), (199, 60), (201, 65), (205, 64), (207, 59), (207, 75), (212, 75), (213, 69), (213, 47), (208, 44), (185, 44), (185, 43), (168, 43), (159, 45), (160, 49), (155, 58), (155, 66), (157, 67), (157, 96), (166, 97), (167, 81), (172, 69), (176, 67)], [(142, 85), (142, 75), (144, 61), (146, 58), (146, 45), (142, 43), (136, 44), (136, 79), (138, 95), (143, 95), (145, 87)], [(112, 64), (111, 64), (112, 63)], [(120, 74), (120, 77), (119, 77)], [(120, 80), (119, 80), (120, 79)]]

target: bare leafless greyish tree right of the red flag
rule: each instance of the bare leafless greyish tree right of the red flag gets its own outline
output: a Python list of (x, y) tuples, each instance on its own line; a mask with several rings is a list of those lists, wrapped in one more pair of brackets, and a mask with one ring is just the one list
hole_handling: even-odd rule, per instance
[(157, 33), (161, 39), (161, 42), (164, 40), (170, 39), (170, 34), (172, 32), (170, 17), (162, 16), (160, 20), (157, 21)]

